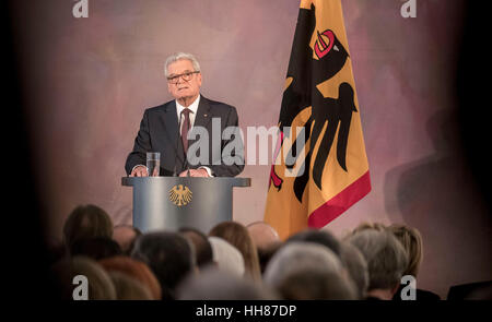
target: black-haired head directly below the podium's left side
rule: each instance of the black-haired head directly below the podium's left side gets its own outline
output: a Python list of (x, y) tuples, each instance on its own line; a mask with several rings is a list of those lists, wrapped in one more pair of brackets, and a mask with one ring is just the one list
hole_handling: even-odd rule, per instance
[(178, 232), (155, 231), (140, 236), (131, 257), (151, 267), (161, 284), (162, 299), (175, 299), (176, 286), (195, 272), (191, 245)]

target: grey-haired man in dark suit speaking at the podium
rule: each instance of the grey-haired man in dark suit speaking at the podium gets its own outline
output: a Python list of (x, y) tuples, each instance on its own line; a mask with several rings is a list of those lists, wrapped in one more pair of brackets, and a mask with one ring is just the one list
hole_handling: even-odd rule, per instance
[(200, 65), (192, 55), (167, 58), (165, 73), (175, 99), (144, 111), (127, 174), (149, 176), (147, 152), (160, 152), (161, 176), (237, 176), (244, 151), (236, 109), (200, 95)]

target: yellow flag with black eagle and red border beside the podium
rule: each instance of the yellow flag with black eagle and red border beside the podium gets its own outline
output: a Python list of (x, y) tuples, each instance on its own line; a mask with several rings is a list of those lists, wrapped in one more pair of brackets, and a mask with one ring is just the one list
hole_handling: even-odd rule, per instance
[(359, 111), (340, 0), (302, 0), (265, 212), (282, 239), (371, 191)]

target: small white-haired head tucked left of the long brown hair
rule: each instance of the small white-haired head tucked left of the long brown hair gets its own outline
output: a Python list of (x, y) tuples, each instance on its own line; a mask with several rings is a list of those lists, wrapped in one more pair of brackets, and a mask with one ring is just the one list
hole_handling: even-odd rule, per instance
[(234, 276), (243, 277), (245, 274), (243, 254), (237, 248), (220, 237), (209, 237), (212, 247), (213, 262), (219, 270)]

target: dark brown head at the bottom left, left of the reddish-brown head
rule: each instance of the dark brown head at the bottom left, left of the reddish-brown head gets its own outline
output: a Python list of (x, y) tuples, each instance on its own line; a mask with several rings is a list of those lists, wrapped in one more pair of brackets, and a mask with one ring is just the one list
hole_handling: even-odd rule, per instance
[(87, 299), (113, 300), (116, 299), (116, 289), (106, 271), (94, 260), (86, 257), (73, 257), (57, 262), (51, 267), (60, 299), (72, 300), (77, 291), (74, 277), (83, 275), (89, 284)]

